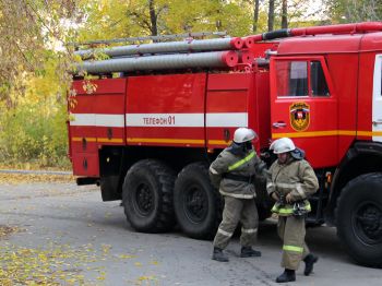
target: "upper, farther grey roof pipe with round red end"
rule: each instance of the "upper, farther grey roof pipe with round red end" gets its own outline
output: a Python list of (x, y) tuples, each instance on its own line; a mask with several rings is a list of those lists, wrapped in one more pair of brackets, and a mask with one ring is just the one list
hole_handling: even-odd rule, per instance
[(184, 41), (166, 41), (155, 44), (142, 44), (119, 46), (102, 49), (86, 49), (74, 51), (74, 55), (82, 59), (91, 58), (93, 53), (106, 53), (110, 58), (124, 57), (145, 53), (168, 53), (168, 52), (188, 52), (188, 51), (212, 51), (212, 50), (228, 50), (240, 49), (243, 46), (243, 40), (239, 37), (234, 38), (215, 38), (215, 39), (192, 39)]

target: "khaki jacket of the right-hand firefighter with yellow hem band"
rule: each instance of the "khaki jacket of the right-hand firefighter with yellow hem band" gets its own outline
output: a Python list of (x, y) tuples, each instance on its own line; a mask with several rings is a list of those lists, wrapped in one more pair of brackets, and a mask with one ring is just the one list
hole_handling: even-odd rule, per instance
[(270, 195), (276, 192), (278, 198), (291, 194), (293, 203), (276, 202), (272, 212), (280, 216), (294, 213), (294, 202), (302, 201), (307, 212), (311, 211), (307, 198), (319, 189), (317, 176), (305, 159), (290, 157), (285, 164), (274, 162), (268, 170), (266, 189)]

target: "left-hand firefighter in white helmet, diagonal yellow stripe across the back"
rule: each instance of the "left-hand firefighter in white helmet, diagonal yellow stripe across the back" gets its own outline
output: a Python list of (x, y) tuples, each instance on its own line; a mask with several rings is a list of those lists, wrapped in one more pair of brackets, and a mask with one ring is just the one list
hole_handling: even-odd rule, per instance
[(210, 178), (224, 198), (223, 221), (214, 239), (212, 259), (228, 262), (223, 252), (240, 222), (241, 258), (261, 257), (252, 249), (258, 235), (259, 215), (254, 202), (255, 175), (263, 176), (265, 164), (259, 158), (252, 146), (256, 133), (248, 128), (235, 131), (234, 142), (225, 148), (210, 167)]

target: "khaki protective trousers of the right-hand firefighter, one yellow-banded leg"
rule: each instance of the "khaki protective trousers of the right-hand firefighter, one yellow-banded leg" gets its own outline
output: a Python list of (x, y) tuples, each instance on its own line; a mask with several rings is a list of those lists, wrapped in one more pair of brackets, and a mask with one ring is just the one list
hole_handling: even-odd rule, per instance
[(300, 261), (310, 253), (305, 241), (306, 219), (303, 217), (279, 216), (277, 233), (284, 243), (282, 267), (298, 270)]

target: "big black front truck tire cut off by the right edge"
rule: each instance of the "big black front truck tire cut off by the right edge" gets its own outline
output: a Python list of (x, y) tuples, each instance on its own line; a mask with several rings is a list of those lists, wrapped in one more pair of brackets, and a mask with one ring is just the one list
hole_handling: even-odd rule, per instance
[(337, 235), (358, 263), (382, 266), (382, 174), (361, 175), (349, 181), (338, 198)]

